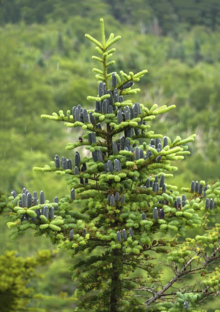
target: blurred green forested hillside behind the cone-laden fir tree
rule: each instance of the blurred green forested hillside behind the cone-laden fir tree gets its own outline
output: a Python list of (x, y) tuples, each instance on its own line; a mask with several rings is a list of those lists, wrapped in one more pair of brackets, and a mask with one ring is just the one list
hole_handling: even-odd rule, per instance
[[(106, 35), (122, 36), (115, 45), (116, 63), (109, 70), (148, 69), (135, 85), (140, 93), (130, 99), (148, 107), (176, 105), (152, 121), (151, 130), (172, 140), (197, 134), (190, 144), (191, 155), (174, 164), (179, 170), (172, 184), (180, 189), (189, 187), (191, 180), (211, 182), (220, 177), (219, 0), (2, 0), (0, 191), (7, 195), (23, 187), (31, 193), (44, 190), (50, 200), (69, 193), (64, 178), (33, 172), (32, 167), (49, 164), (56, 153), (73, 159), (73, 151), (65, 151), (65, 146), (77, 141), (80, 133), (40, 115), (91, 105), (86, 96), (97, 94), (91, 59), (95, 49), (84, 34), (100, 38), (101, 17)], [(37, 250), (52, 250), (48, 240), (31, 232), (15, 242), (9, 236), (1, 217), (0, 254), (17, 250), (27, 257)], [(73, 310), (68, 299), (74, 291), (68, 272), (73, 261), (59, 250), (51, 264), (40, 269), (42, 278), (30, 284), (34, 293), (47, 299), (30, 301), (33, 311)], [(210, 301), (208, 311), (214, 308), (216, 301)], [(20, 310), (0, 307), (0, 311)]]

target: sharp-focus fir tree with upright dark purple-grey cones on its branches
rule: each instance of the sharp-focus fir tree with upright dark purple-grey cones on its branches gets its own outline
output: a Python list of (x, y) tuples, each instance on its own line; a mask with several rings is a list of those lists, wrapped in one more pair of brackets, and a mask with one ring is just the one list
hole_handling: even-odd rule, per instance
[[(82, 254), (71, 267), (78, 281), (74, 311), (201, 311), (203, 300), (219, 294), (220, 183), (192, 181), (182, 193), (166, 183), (177, 170), (171, 161), (190, 154), (186, 144), (195, 134), (172, 142), (149, 130), (150, 121), (175, 105), (147, 108), (129, 100), (147, 70), (109, 73), (112, 46), (121, 37), (106, 40), (102, 19), (100, 24), (101, 42), (85, 35), (101, 65), (93, 68), (98, 94), (87, 96), (95, 107), (76, 103), (66, 116), (62, 110), (41, 116), (83, 130), (66, 147), (80, 150), (73, 161), (56, 155), (50, 165), (34, 168), (66, 175), (69, 195), (49, 202), (43, 191), (13, 191), (7, 225), (15, 228), (12, 239), (32, 228), (70, 250), (73, 259)], [(185, 238), (189, 229), (201, 235)]]

